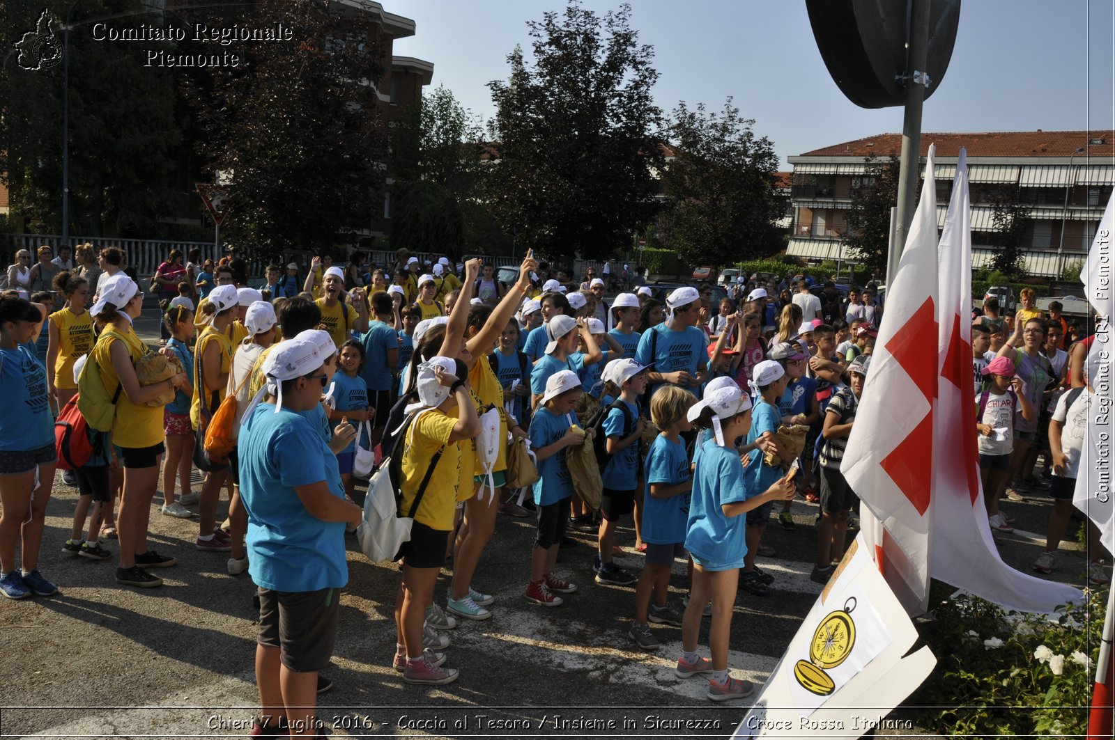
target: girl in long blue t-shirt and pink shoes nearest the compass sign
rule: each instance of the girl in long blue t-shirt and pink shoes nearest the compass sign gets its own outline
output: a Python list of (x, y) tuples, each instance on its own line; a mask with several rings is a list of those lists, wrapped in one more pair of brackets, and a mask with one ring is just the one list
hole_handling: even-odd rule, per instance
[[(769, 403), (768, 403), (769, 405)], [(692, 477), (686, 549), (694, 561), (692, 591), (681, 625), (681, 658), (675, 672), (682, 679), (698, 673), (711, 674), (708, 698), (712, 701), (743, 699), (755, 688), (728, 675), (728, 643), (731, 613), (739, 584), (739, 567), (748, 553), (749, 533), (740, 514), (769, 507), (770, 502), (794, 496), (794, 484), (786, 478), (758, 488), (745, 475), (739, 452), (733, 441), (754, 428), (752, 405), (738, 387), (720, 387), (705, 393), (690, 411), (695, 426), (711, 429), (712, 437), (701, 445), (701, 455)], [(768, 413), (773, 413), (773, 407)], [(711, 660), (697, 654), (700, 613), (711, 601), (709, 626)]]

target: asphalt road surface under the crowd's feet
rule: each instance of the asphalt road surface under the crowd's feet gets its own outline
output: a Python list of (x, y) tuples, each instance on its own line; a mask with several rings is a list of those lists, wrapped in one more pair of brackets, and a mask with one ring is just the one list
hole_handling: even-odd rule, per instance
[[(157, 342), (152, 317), (137, 327)], [(76, 489), (62, 485), (58, 475), (40, 569), (59, 584), (60, 593), (0, 600), (0, 737), (246, 736), (258, 711), (254, 587), (248, 574), (230, 576), (225, 554), (192, 547), (196, 518), (162, 516), (156, 495), (152, 547), (175, 556), (178, 565), (159, 572), (166, 580), (161, 588), (120, 587), (113, 580), (115, 559), (91, 562), (61, 553), (76, 502)], [(1006, 503), (1004, 508), (1016, 516), (1019, 530), (1045, 532), (1047, 498)], [(767, 529), (766, 542), (777, 556), (759, 563), (777, 581), (769, 596), (740, 592), (737, 598), (730, 655), (737, 678), (762, 684), (821, 592), (808, 578), (816, 510), (799, 499), (794, 503), (796, 530)], [(399, 572), (390, 563), (369, 563), (350, 538), (350, 583), (341, 596), (328, 672), (336, 687), (319, 697), (319, 717), (332, 734), (730, 736), (746, 713), (745, 702), (714, 704), (699, 678), (673, 675), (678, 627), (652, 625), (662, 649), (638, 650), (626, 636), (633, 588), (594, 584), (593, 535), (572, 535), (578, 545), (562, 552), (558, 571), (580, 591), (561, 607), (542, 608), (522, 597), (533, 527), (529, 519), (500, 517), (475, 582), (495, 594), (494, 616), (448, 633), (448, 664), (462, 678), (434, 688), (407, 685), (391, 670)], [(1020, 533), (1005, 539), (1004, 558), (1028, 572), (1040, 545)], [(628, 554), (618, 562), (638, 572), (642, 556), (633, 552), (633, 530), (620, 527), (619, 543)], [(116, 541), (107, 546), (115, 555)], [(1064, 552), (1053, 577), (1079, 585), (1083, 565), (1078, 553)], [(440, 603), (450, 573), (444, 569), (438, 580)], [(670, 585), (671, 598), (679, 602), (686, 588), (683, 563), (676, 564)], [(704, 654), (707, 625), (706, 620)], [(686, 727), (687, 720), (710, 727)]]

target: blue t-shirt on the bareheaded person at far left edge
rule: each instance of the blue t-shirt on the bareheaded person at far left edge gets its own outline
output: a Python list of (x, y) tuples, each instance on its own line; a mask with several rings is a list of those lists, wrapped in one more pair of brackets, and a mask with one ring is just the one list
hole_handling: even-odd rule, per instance
[(55, 419), (47, 402), (47, 370), (26, 344), (0, 349), (0, 450), (54, 446)]

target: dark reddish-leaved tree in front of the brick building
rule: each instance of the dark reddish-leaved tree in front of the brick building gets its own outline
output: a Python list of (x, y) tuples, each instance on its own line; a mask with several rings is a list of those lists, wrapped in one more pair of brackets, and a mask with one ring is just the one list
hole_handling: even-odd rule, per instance
[[(198, 0), (194, 14), (205, 7)], [(223, 233), (262, 254), (351, 241), (351, 232), (371, 228), (382, 202), (376, 28), (326, 0), (235, 8), (214, 22), (281, 23), (293, 38), (237, 45), (241, 65), (210, 68), (185, 85), (204, 133), (197, 150), (205, 168), (231, 179)], [(182, 51), (212, 53), (212, 45)]]

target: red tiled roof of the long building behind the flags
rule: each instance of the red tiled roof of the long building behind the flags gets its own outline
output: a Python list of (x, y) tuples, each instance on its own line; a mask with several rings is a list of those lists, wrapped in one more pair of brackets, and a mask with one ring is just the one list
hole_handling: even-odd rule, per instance
[[(1089, 145), (1089, 139), (1101, 138), (1102, 145)], [(960, 147), (967, 147), (969, 157), (1069, 157), (1079, 147), (1083, 155), (1109, 157), (1115, 154), (1115, 130), (1099, 132), (986, 132), (975, 134), (922, 133), (921, 156), (929, 154), (929, 145), (937, 144), (937, 156), (956, 157)], [(872, 145), (872, 146), (869, 146)], [(902, 150), (901, 134), (878, 134), (854, 142), (844, 142), (806, 152), (803, 157), (865, 157), (871, 153), (885, 157)]]

